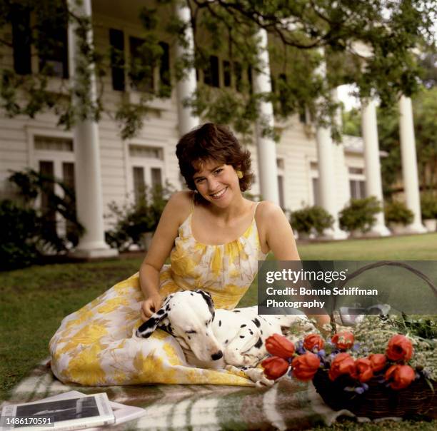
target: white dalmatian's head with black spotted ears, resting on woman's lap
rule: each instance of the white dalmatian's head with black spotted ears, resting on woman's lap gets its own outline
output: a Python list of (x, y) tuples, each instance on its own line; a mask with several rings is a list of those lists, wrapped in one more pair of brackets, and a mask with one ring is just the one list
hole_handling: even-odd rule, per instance
[(136, 336), (149, 338), (156, 328), (162, 328), (199, 360), (218, 360), (223, 353), (212, 330), (213, 320), (211, 295), (204, 290), (184, 290), (167, 296), (162, 308), (136, 330)]

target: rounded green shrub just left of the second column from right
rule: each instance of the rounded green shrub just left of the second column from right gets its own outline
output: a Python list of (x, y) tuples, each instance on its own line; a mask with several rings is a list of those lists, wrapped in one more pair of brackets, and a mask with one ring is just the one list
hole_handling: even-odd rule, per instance
[(376, 214), (381, 211), (381, 206), (375, 196), (363, 199), (351, 199), (348, 206), (339, 213), (338, 222), (343, 230), (352, 232), (361, 230), (368, 232), (376, 223)]

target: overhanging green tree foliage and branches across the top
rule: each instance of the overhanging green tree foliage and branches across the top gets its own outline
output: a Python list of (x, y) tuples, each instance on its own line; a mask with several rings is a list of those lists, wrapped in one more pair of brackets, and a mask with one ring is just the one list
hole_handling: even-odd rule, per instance
[[(44, 58), (46, 50), (59, 49), (59, 40), (48, 37), (56, 31), (47, 30), (74, 21), (84, 64), (94, 64), (98, 78), (116, 64), (125, 76), (140, 77), (141, 81), (161, 64), (163, 51), (156, 29), (166, 29), (171, 44), (186, 43), (182, 36), (186, 24), (171, 11), (176, 1), (181, 0), (150, 1), (139, 11), (144, 41), (138, 46), (139, 61), (129, 65), (118, 57), (120, 52), (114, 47), (102, 53), (89, 46), (85, 35), (91, 23), (68, 11), (65, 0), (3, 0), (0, 29), (14, 23), (13, 34), (24, 36), (26, 49), (34, 46)], [(411, 49), (424, 42), (432, 43), (436, 13), (435, 2), (428, 0), (187, 0), (187, 4), (196, 56), (176, 61), (175, 78), (181, 78), (189, 66), (207, 71), (213, 54), (228, 59), (229, 73), (234, 81), (240, 81), (238, 95), (231, 88), (213, 89), (199, 83), (199, 91), (188, 103), (199, 115), (229, 123), (246, 134), (251, 131), (258, 115), (256, 106), (262, 98), (271, 100), (276, 112), (283, 116), (306, 107), (316, 121), (323, 123), (330, 121), (336, 107), (331, 88), (340, 83), (356, 83), (361, 97), (377, 95), (384, 106), (393, 105), (400, 93), (415, 93), (418, 65)], [(32, 14), (36, 19), (26, 18)], [(271, 94), (255, 94), (251, 86), (251, 75), (258, 70), (256, 33), (260, 28), (269, 34), (273, 82), (277, 84)], [(367, 46), (372, 56), (363, 55), (358, 44)], [(12, 42), (3, 38), (0, 45), (12, 46)], [(326, 78), (313, 73), (325, 60)], [(74, 88), (64, 83), (66, 89), (59, 93), (49, 91), (50, 64), (40, 66), (39, 73), (31, 75), (23, 73), (26, 70), (14, 71), (6, 66), (1, 69), (0, 102), (8, 116), (24, 113), (32, 117), (51, 109), (58, 114), (59, 124), (68, 128), (83, 118), (99, 120), (102, 115), (109, 115), (119, 121), (121, 136), (127, 138), (141, 128), (150, 99), (168, 97), (171, 90), (171, 84), (166, 83), (144, 93), (139, 103), (121, 102), (112, 112), (104, 106), (101, 79), (96, 103), (87, 100), (89, 68), (81, 68)], [(70, 103), (73, 93), (81, 98), (76, 106)]]

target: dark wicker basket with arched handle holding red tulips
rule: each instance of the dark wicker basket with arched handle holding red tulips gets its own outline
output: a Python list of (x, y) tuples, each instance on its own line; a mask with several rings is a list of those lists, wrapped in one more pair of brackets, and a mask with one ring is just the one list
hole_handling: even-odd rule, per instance
[[(342, 285), (345, 285), (348, 280), (355, 278), (364, 271), (382, 265), (398, 266), (415, 273), (425, 280), (437, 295), (436, 286), (426, 275), (406, 263), (396, 261), (383, 261), (366, 265), (349, 275)], [(333, 316), (331, 316), (331, 319), (335, 325)], [(435, 381), (428, 383), (424, 377), (421, 377), (402, 390), (393, 390), (391, 387), (387, 387), (384, 383), (378, 382), (377, 377), (373, 377), (366, 383), (368, 384), (368, 390), (363, 394), (357, 394), (356, 392), (344, 390), (347, 386), (353, 387), (355, 385), (355, 381), (346, 375), (341, 375), (336, 380), (331, 381), (327, 370), (318, 370), (313, 378), (313, 384), (317, 392), (333, 410), (347, 409), (357, 416), (370, 417), (371, 419), (378, 417), (411, 417), (415, 415), (437, 418), (437, 382)]]

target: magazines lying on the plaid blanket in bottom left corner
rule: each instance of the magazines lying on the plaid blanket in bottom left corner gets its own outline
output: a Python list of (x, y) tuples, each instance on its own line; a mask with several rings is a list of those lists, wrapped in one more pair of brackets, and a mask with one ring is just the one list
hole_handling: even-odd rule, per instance
[(109, 401), (106, 393), (85, 395), (71, 390), (36, 402), (3, 407), (0, 430), (79, 430), (119, 425), (144, 414), (145, 410), (139, 407)]

